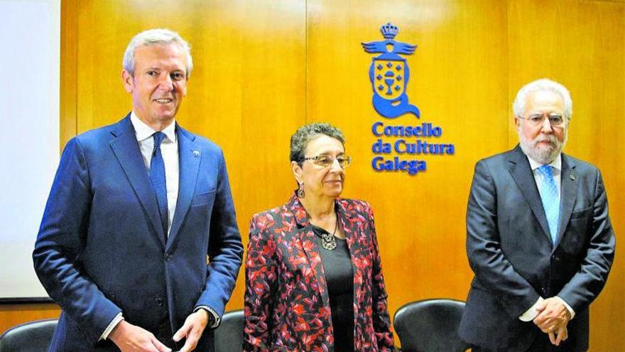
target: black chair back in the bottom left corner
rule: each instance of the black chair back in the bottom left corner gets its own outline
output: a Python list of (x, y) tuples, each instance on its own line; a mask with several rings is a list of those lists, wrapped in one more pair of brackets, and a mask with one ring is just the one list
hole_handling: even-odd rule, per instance
[(0, 352), (47, 352), (58, 319), (13, 326), (0, 336)]

